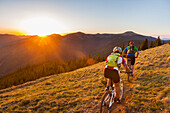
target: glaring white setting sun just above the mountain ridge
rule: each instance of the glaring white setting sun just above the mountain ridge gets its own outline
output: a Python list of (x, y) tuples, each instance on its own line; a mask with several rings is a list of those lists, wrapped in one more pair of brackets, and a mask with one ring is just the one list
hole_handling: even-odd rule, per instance
[(46, 36), (49, 34), (60, 34), (63, 31), (63, 25), (55, 19), (49, 17), (35, 17), (25, 19), (21, 23), (21, 28), (28, 35)]

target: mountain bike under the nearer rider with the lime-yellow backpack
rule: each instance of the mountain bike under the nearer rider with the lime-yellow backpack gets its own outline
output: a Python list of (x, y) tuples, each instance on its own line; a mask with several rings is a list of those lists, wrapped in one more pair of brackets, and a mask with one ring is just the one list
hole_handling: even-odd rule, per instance
[[(120, 73), (131, 73), (128, 71), (120, 71)], [(111, 83), (113, 84), (113, 83)], [(110, 90), (106, 91), (103, 95), (102, 101), (101, 101), (101, 106), (100, 106), (100, 113), (110, 113), (111, 108), (113, 103), (115, 102), (115, 97), (116, 97), (116, 91), (114, 84), (111, 85), (109, 88)], [(124, 87), (123, 87), (123, 80), (120, 78), (120, 101), (123, 98), (123, 93), (124, 93)]]

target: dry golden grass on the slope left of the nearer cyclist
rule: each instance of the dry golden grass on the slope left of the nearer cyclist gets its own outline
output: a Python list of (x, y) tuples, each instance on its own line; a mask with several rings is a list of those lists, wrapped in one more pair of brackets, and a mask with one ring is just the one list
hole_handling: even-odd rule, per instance
[[(52, 75), (30, 86), (0, 94), (0, 111), (83, 111), (103, 89), (104, 62), (69, 73)], [(40, 80), (37, 80), (40, 81)], [(29, 83), (27, 83), (29, 84)]]

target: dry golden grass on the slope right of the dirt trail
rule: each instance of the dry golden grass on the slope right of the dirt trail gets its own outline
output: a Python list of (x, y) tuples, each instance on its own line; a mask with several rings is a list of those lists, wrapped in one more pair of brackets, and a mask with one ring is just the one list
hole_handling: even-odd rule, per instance
[[(135, 66), (136, 80), (125, 112), (169, 112), (170, 45), (140, 52)], [(140, 76), (143, 73), (143, 76)]]

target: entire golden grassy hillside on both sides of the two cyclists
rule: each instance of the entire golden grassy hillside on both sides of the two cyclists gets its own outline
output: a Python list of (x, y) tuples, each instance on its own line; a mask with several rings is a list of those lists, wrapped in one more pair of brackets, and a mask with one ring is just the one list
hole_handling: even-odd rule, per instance
[[(105, 62), (0, 90), (0, 112), (98, 112)], [(132, 84), (113, 111), (168, 112), (170, 45), (141, 51)], [(122, 76), (122, 75), (121, 75)]]

